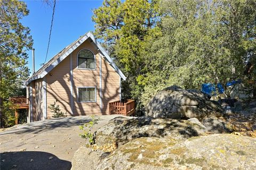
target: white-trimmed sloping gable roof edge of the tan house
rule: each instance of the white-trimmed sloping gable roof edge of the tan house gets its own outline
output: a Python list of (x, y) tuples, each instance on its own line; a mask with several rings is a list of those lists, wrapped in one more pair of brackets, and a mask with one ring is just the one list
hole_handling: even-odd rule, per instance
[[(28, 78), (25, 81), (25, 85), (28, 85), (31, 81), (39, 79), (39, 78), (43, 78), (46, 74), (48, 74), (53, 68), (55, 68), (62, 60), (64, 60), (69, 54), (71, 54), (74, 50), (76, 50), (76, 48), (81, 45), (83, 42), (85, 42), (88, 38), (91, 38), (93, 43), (99, 48), (100, 52), (102, 53), (103, 57), (105, 57), (108, 62), (111, 64), (111, 66), (113, 66), (113, 68), (116, 70), (117, 74), (123, 78), (123, 80), (126, 80), (126, 77), (124, 76), (123, 72), (116, 66), (116, 64), (114, 63), (114, 61), (110, 58), (110, 56), (108, 55), (108, 53), (106, 52), (106, 50), (100, 45), (99, 42), (97, 42), (96, 38), (93, 36), (93, 34), (91, 33), (91, 31), (89, 31), (88, 33), (86, 33), (82, 38), (79, 39), (79, 41), (77, 41), (73, 46), (69, 47), (69, 49), (63, 53), (62, 55), (59, 56), (58, 59), (56, 59), (54, 62), (52, 62), (50, 64), (50, 66), (46, 67), (41, 74), (37, 75), (37, 76), (31, 76), (30, 78)], [(57, 54), (58, 55), (58, 54)], [(39, 69), (40, 70), (40, 69)], [(38, 71), (39, 71), (38, 70)]]

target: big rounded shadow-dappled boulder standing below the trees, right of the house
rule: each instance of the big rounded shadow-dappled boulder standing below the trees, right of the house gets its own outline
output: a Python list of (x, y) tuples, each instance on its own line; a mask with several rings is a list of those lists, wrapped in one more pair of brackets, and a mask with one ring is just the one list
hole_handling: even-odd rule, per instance
[(146, 116), (172, 119), (197, 118), (201, 121), (205, 117), (223, 116), (223, 110), (203, 92), (170, 86), (150, 100)]

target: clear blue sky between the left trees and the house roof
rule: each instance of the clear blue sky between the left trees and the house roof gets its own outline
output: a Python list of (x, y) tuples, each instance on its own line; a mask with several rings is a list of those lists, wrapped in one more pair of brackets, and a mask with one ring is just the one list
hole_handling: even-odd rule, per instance
[[(24, 26), (30, 28), (35, 48), (35, 70), (41, 68), (44, 62), (49, 39), (52, 18), (52, 7), (43, 1), (25, 1), (29, 15), (21, 20)], [(87, 31), (94, 30), (92, 22), (93, 9), (102, 5), (102, 1), (56, 1), (52, 27), (51, 42), (47, 60), (63, 48), (74, 42)], [(28, 67), (32, 72), (32, 52), (28, 51)]]

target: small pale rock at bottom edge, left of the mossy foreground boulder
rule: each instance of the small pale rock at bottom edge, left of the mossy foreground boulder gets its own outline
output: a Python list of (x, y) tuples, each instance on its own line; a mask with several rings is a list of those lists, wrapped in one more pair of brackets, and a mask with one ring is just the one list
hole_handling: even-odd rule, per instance
[(92, 170), (109, 155), (103, 151), (93, 151), (91, 148), (80, 147), (72, 159), (71, 170)]

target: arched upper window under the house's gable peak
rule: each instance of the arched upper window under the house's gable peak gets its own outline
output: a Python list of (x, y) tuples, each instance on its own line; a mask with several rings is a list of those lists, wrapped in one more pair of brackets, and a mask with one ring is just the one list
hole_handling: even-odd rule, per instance
[(95, 58), (91, 51), (81, 50), (77, 55), (78, 68), (95, 69)]

